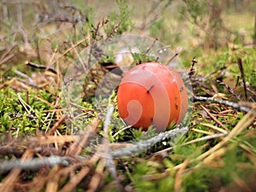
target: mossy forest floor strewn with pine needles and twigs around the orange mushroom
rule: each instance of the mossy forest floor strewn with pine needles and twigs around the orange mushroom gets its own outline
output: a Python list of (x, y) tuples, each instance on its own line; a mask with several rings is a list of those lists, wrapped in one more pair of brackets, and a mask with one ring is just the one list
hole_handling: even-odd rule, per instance
[[(218, 28), (207, 12), (177, 16), (177, 1), (143, 12), (143, 1), (63, 2), (0, 4), (0, 191), (256, 190), (252, 10), (223, 10)], [(119, 81), (102, 79), (175, 53), (183, 122), (163, 133), (125, 125)]]

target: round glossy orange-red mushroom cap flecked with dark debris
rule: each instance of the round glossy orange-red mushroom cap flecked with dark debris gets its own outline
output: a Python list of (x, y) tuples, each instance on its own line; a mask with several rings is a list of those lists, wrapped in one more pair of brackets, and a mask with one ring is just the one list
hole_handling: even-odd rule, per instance
[(119, 115), (128, 125), (147, 130), (154, 125), (166, 131), (179, 124), (188, 108), (188, 95), (183, 79), (171, 67), (147, 62), (125, 73), (117, 93)]

